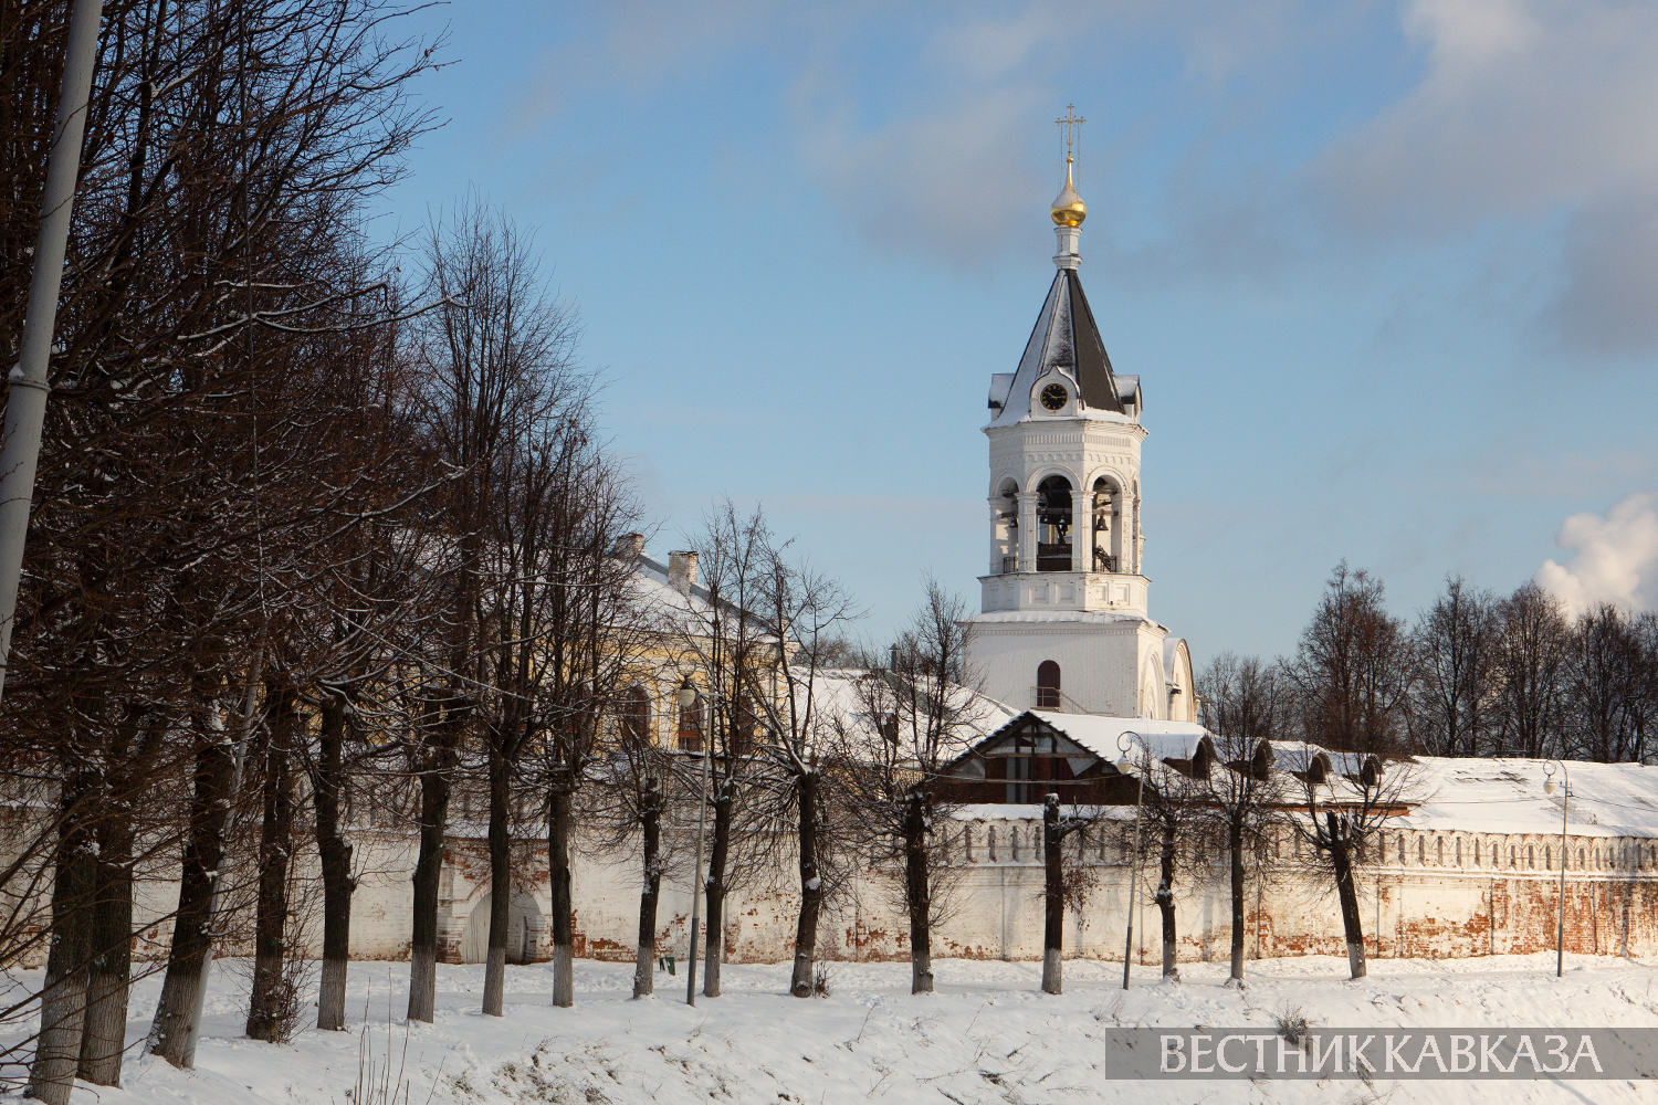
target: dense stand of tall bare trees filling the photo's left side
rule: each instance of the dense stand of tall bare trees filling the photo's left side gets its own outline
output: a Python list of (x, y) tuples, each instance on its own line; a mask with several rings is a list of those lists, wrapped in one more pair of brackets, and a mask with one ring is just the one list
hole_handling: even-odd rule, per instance
[[(532, 244), (476, 197), (375, 247), (365, 202), (433, 116), (441, 41), (381, 0), (111, 0), (0, 721), (0, 1082), (118, 1085), (131, 984), (187, 1065), (216, 944), (247, 1034), (345, 1024), (355, 830), (418, 835), (411, 1016), (431, 1017), (456, 779), (489, 850), (542, 825), (570, 1001), (572, 803), (630, 668), (640, 507)], [(0, 311), (17, 341), (68, 3), (0, 0)], [(410, 275), (403, 275), (403, 270)], [(537, 800), (524, 803), (526, 794)], [(134, 885), (176, 880), (134, 923)], [(562, 886), (562, 893), (560, 893)], [(313, 906), (320, 898), (320, 908)], [(494, 900), (499, 1012), (511, 896)], [(134, 941), (171, 929), (164, 954)]]

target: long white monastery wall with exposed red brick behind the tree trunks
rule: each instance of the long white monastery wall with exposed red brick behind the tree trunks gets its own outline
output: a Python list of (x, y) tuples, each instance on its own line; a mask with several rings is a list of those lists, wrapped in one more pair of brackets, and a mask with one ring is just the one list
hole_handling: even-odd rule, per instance
[[(1091, 886), (1079, 910), (1066, 911), (1066, 956), (1122, 958), (1129, 868), (1116, 843), (1101, 848), (1089, 830), (1081, 843)], [(1403, 848), (1403, 858), (1399, 845)], [(1557, 835), (1446, 833), (1391, 830), (1386, 855), (1358, 871), (1365, 943), (1381, 958), (1462, 958), (1545, 951), (1555, 941), (1559, 901)], [(1476, 845), (1479, 845), (1476, 853)], [(1461, 850), (1459, 850), (1461, 847)], [(414, 840), (388, 833), (356, 837), (360, 883), (351, 901), (351, 954), (356, 959), (406, 959)], [(512, 959), (550, 954), (545, 845), (514, 843), (509, 953)], [(978, 820), (952, 830), (948, 910), (935, 929), (935, 956), (1040, 959), (1043, 941), (1041, 822)], [(1567, 873), (1567, 949), (1585, 954), (1658, 954), (1658, 843), (1650, 838), (1573, 837)], [(1248, 863), (1245, 954), (1345, 954), (1331, 878), (1310, 868), (1282, 842), (1277, 856)], [(1582, 860), (1578, 858), (1582, 853)], [(1225, 959), (1230, 949), (1230, 891), (1222, 856), (1207, 871), (1176, 876), (1176, 918), (1182, 961)], [(487, 936), (489, 880), (482, 840), (454, 840), (441, 878), (439, 931), (444, 959), (481, 961)], [(297, 939), (320, 953), (320, 891), (297, 883)], [(1151, 901), (1156, 870), (1141, 873), (1136, 896), (1136, 959), (1161, 961), (1161, 914)], [(774, 856), (763, 878), (728, 898), (728, 963), (776, 963), (794, 951), (794, 860)], [(245, 880), (242, 880), (245, 883)], [(831, 905), (819, 928), (819, 958), (902, 959), (909, 921), (897, 868), (859, 870)], [(574, 861), (575, 954), (632, 959), (638, 929), (640, 871), (635, 855), (579, 855)], [(658, 954), (685, 956), (690, 871), (663, 880)], [(136, 914), (151, 923), (134, 938), (134, 954), (154, 959), (171, 939), (167, 913), (177, 901), (174, 878), (143, 878)], [(244, 924), (245, 928), (245, 924)], [(240, 939), (239, 939), (240, 936)], [(245, 951), (232, 934), (229, 951)], [(30, 964), (38, 966), (38, 964)]]

